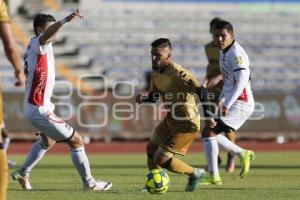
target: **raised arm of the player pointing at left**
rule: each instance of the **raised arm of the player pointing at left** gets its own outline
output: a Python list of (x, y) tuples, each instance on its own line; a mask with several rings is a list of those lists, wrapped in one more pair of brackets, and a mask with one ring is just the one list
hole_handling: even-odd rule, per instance
[(40, 44), (45, 45), (50, 41), (50, 38), (57, 33), (57, 31), (67, 22), (72, 21), (74, 18), (83, 18), (83, 16), (80, 14), (79, 9), (72, 12), (70, 15), (65, 17), (64, 19), (55, 22), (52, 24), (45, 33), (40, 37)]

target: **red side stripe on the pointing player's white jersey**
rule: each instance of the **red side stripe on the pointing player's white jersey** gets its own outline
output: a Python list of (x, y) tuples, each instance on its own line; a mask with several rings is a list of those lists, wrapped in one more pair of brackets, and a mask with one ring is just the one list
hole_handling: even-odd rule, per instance
[(44, 95), (48, 78), (47, 54), (37, 57), (37, 65), (34, 68), (34, 74), (31, 84), (30, 96), (28, 102), (37, 105), (44, 105)]

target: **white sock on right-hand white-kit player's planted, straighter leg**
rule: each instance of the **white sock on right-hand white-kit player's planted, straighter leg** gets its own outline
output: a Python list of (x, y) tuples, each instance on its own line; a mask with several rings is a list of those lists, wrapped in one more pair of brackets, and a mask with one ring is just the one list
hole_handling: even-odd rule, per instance
[(216, 140), (216, 137), (208, 137), (204, 138), (204, 148), (205, 148), (205, 156), (207, 160), (207, 165), (209, 173), (213, 176), (219, 175), (218, 168), (218, 155), (219, 155), (219, 146)]

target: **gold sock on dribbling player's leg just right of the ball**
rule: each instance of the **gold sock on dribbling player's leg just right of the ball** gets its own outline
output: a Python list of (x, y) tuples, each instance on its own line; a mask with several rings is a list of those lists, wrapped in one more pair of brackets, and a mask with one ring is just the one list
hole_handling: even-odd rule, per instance
[(182, 160), (178, 158), (172, 157), (170, 158), (171, 162), (169, 167), (167, 168), (169, 171), (178, 173), (178, 174), (186, 174), (186, 175), (193, 175), (194, 174), (194, 167), (186, 164)]

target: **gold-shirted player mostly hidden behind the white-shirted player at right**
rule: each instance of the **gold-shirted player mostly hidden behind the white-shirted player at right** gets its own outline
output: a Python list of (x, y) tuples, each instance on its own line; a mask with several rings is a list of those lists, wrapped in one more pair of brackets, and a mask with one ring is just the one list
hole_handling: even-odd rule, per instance
[[(213, 18), (209, 25), (209, 32), (212, 34), (213, 27), (223, 19), (215, 17)], [(219, 49), (214, 41), (207, 43), (205, 46), (205, 54), (208, 60), (208, 65), (206, 68), (206, 77), (204, 81), (204, 87), (207, 88), (210, 94), (210, 101), (215, 105), (218, 105), (218, 99), (223, 87), (223, 76), (219, 67)], [(233, 130), (226, 130), (225, 136), (233, 143), (235, 143), (235, 132)], [(218, 164), (221, 164), (221, 158), (218, 156)], [(227, 172), (233, 172), (235, 168), (234, 154), (228, 152), (227, 154), (227, 164), (225, 170)], [(211, 171), (211, 169), (209, 169)]]

